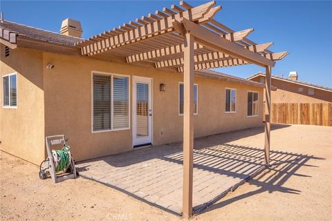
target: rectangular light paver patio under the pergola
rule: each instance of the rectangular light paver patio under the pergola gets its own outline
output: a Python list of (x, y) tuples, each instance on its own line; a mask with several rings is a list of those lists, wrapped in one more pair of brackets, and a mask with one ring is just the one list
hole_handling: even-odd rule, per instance
[[(264, 169), (261, 148), (221, 144), (221, 140), (222, 135), (195, 140), (193, 207), (196, 212)], [(81, 162), (77, 170), (82, 177), (181, 215), (182, 162), (182, 144), (167, 144)]]

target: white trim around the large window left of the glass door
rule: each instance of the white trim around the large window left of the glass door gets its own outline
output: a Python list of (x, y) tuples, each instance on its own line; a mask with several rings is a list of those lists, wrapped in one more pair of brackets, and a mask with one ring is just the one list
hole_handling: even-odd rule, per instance
[[(113, 128), (113, 76), (119, 76), (119, 77), (128, 77), (128, 127), (126, 128), (116, 128), (116, 129), (105, 129), (105, 130), (100, 130), (100, 131), (93, 131), (93, 74), (96, 75), (111, 75), (111, 127)], [(116, 74), (116, 73), (106, 73), (106, 72), (101, 72), (98, 70), (92, 70), (91, 71), (91, 133), (104, 133), (104, 132), (112, 132), (112, 131), (126, 131), (130, 130), (130, 123), (131, 123), (131, 93), (130, 93), (130, 88), (131, 88), (131, 77), (130, 75), (121, 75), (121, 74)]]

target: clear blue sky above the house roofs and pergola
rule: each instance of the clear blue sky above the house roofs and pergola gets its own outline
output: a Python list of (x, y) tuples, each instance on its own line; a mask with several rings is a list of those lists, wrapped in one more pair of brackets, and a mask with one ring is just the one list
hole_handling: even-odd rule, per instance
[[(197, 6), (204, 1), (187, 1)], [(61, 21), (81, 21), (83, 37), (97, 35), (136, 17), (178, 1), (3, 1), (8, 21), (59, 32)], [(255, 28), (249, 39), (273, 41), (270, 50), (290, 52), (277, 61), (273, 73), (286, 77), (296, 70), (299, 80), (332, 87), (332, 1), (216, 1), (223, 9), (215, 19), (233, 30)], [(248, 77), (264, 68), (247, 65), (218, 68), (223, 73)]]

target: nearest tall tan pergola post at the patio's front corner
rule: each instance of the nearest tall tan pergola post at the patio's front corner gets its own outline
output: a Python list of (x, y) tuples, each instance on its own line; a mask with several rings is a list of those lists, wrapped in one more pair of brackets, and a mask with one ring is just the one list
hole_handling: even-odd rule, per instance
[(192, 175), (194, 150), (194, 37), (184, 39), (183, 71), (183, 217), (192, 216)]

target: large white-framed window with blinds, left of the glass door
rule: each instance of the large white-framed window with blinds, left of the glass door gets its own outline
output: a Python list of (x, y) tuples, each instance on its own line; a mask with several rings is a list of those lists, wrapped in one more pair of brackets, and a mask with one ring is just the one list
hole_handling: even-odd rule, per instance
[(129, 129), (129, 77), (92, 74), (92, 131)]

